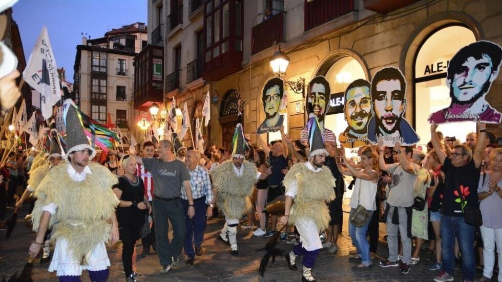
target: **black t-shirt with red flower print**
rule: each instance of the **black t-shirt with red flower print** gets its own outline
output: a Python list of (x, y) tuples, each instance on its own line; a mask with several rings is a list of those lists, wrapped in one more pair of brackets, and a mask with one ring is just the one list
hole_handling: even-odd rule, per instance
[[(451, 164), (451, 159), (447, 157), (442, 170), (445, 172), (443, 214), (448, 216), (464, 216), (464, 210), (467, 205), (478, 207), (477, 185), (481, 167), (476, 168), (472, 159), (465, 166), (454, 167)], [(463, 206), (459, 190), (464, 201)]]

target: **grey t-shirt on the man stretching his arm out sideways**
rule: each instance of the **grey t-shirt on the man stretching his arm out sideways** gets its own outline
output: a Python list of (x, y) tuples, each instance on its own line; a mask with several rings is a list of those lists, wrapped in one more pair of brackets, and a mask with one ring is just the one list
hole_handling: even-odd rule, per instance
[(179, 159), (164, 162), (160, 158), (141, 158), (144, 167), (153, 177), (154, 194), (161, 198), (181, 196), (183, 181), (190, 180), (186, 165)]

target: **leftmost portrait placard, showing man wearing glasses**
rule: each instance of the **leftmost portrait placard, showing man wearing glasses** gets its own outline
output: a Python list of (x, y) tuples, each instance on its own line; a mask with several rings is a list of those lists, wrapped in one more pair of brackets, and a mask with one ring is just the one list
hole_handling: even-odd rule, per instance
[(268, 80), (263, 88), (263, 110), (265, 111), (265, 120), (256, 130), (257, 134), (279, 131), (284, 122), (284, 116), (279, 114), (281, 99), (284, 95), (284, 82), (281, 78), (272, 78)]

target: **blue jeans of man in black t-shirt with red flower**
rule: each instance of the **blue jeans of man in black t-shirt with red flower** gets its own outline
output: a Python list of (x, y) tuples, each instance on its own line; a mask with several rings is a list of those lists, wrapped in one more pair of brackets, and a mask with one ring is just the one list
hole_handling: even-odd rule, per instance
[(474, 280), (476, 273), (476, 260), (474, 257), (474, 226), (466, 224), (464, 216), (447, 216), (441, 218), (441, 254), (443, 256), (442, 270), (453, 275), (455, 267), (455, 255), (453, 246), (455, 237), (458, 240), (458, 246), (462, 252), (462, 271), (464, 278)]

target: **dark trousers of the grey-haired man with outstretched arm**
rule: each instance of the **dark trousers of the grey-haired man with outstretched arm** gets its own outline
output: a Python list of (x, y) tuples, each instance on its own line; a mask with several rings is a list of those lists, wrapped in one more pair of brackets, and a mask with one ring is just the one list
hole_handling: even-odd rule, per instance
[[(165, 201), (154, 198), (153, 214), (155, 222), (155, 238), (157, 240), (157, 253), (161, 266), (168, 266), (173, 262), (172, 257), (181, 253), (185, 239), (185, 215), (181, 199)], [(173, 225), (173, 239), (168, 238), (169, 221)]]

